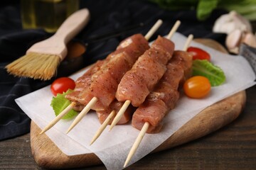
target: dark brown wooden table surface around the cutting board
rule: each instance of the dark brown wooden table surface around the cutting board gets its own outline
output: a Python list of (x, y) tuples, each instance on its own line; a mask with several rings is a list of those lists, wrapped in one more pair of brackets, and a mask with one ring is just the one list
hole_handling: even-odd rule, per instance
[[(256, 86), (246, 94), (245, 108), (233, 123), (185, 145), (149, 154), (127, 169), (256, 169)], [(0, 169), (42, 169), (31, 154), (29, 134), (0, 142)]]

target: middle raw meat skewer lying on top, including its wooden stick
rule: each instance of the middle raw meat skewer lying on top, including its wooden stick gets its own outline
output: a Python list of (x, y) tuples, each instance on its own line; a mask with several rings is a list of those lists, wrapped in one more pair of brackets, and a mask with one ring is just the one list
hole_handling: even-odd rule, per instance
[(153, 42), (151, 48), (139, 57), (132, 69), (124, 74), (118, 85), (116, 98), (118, 101), (125, 102), (112, 121), (110, 130), (122, 118), (122, 114), (130, 103), (132, 103), (132, 106), (138, 107), (144, 102), (146, 96), (149, 95), (166, 72), (166, 64), (174, 52), (174, 42), (170, 39), (179, 25), (180, 21), (177, 21), (167, 38), (159, 36)]

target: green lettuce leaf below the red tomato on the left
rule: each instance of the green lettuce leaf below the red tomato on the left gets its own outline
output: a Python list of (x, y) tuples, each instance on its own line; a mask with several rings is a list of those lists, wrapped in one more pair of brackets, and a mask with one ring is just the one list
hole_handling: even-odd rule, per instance
[[(50, 106), (53, 107), (53, 111), (56, 116), (59, 115), (66, 107), (70, 105), (70, 101), (67, 98), (65, 98), (65, 95), (71, 93), (72, 91), (73, 90), (69, 89), (65, 93), (57, 94), (56, 97), (53, 97)], [(63, 116), (63, 119), (73, 118), (75, 115), (78, 115), (78, 112), (72, 109), (68, 112), (68, 114)]]

